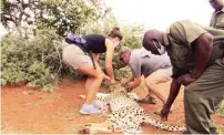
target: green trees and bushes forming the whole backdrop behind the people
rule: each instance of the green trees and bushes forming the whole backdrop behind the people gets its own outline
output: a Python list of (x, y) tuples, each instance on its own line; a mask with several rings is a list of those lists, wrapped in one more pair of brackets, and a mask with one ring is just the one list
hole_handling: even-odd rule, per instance
[[(2, 3), (1, 22), (9, 31), (1, 41), (2, 85), (27, 83), (31, 87), (53, 91), (65, 75), (81, 77), (61, 58), (64, 37), (71, 32), (106, 35), (118, 25), (125, 38), (121, 46), (140, 46), (142, 27), (118, 23), (111, 9), (100, 0), (3, 0)], [(116, 49), (113, 61), (116, 76), (122, 75), (119, 69), (123, 68), (118, 59), (120, 49)], [(103, 54), (100, 64), (103, 69)]]

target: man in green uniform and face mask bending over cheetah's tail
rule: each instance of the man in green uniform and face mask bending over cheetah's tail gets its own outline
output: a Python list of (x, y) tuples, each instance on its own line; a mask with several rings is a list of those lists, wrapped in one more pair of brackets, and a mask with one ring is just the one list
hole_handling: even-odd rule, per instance
[(167, 51), (173, 65), (173, 81), (161, 111), (162, 120), (167, 120), (170, 107), (183, 84), (187, 133), (216, 133), (210, 115), (224, 98), (223, 40), (223, 30), (190, 20), (174, 22), (167, 32), (149, 30), (144, 34), (143, 46), (160, 55)]

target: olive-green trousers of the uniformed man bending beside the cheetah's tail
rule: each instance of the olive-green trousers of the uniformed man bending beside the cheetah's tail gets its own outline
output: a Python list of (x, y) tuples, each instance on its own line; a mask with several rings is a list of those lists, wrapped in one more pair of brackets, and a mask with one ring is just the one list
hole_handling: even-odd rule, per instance
[(184, 91), (185, 122), (189, 134), (215, 134), (211, 120), (214, 107), (224, 100), (224, 58), (215, 61)]

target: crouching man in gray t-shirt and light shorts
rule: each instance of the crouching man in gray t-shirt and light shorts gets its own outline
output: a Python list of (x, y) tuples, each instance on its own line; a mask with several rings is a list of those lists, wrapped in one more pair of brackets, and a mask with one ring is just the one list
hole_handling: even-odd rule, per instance
[(145, 49), (126, 49), (120, 52), (120, 60), (132, 70), (133, 76), (128, 83), (129, 90), (139, 86), (141, 76), (144, 75), (149, 92), (156, 95), (163, 104), (166, 103), (167, 96), (159, 84), (171, 81), (172, 66), (167, 54), (154, 55)]

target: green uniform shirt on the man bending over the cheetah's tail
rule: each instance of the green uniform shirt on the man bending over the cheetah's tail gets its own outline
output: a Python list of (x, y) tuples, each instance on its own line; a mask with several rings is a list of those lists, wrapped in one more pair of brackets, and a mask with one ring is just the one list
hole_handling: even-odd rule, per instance
[(167, 54), (173, 65), (173, 77), (193, 72), (194, 53), (192, 43), (203, 33), (208, 32), (214, 37), (213, 52), (208, 64), (224, 55), (224, 30), (217, 30), (194, 23), (190, 20), (171, 24), (165, 37)]

